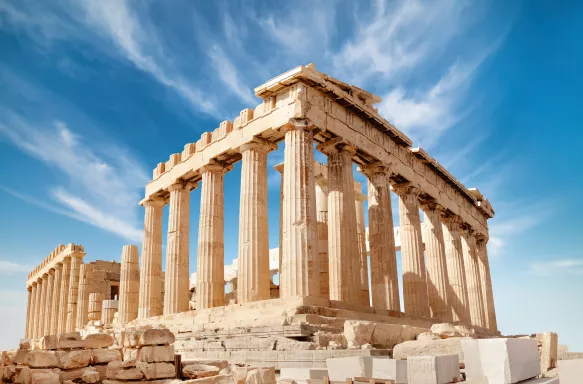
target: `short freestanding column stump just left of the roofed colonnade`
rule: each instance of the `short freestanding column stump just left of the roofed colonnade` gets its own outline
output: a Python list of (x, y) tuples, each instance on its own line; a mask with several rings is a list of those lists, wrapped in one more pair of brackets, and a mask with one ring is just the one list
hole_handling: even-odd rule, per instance
[(139, 289), (140, 264), (138, 247), (136, 245), (124, 245), (121, 253), (121, 273), (119, 281), (118, 322), (120, 324), (129, 323), (138, 317)]

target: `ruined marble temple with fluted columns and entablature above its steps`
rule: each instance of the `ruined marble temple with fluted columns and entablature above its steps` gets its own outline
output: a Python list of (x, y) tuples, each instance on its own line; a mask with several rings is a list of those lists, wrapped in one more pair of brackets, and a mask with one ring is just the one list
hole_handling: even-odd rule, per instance
[[(268, 231), (278, 231), (280, 300), (322, 299), (387, 316), (400, 316), (403, 304), (414, 318), (497, 329), (486, 251), (494, 212), (477, 189), (413, 148), (379, 115), (378, 96), (313, 65), (283, 73), (255, 94), (263, 99), (257, 107), (203, 133), (154, 169), (140, 202), (140, 263), (135, 246), (123, 250), (118, 321), (189, 311), (190, 269), (196, 271), (196, 312), (227, 304), (224, 243), (234, 240), (224, 237), (224, 177), (241, 162), (237, 303), (270, 299)], [(281, 218), (269, 223), (267, 157), (278, 145), (285, 148), (277, 166)], [(325, 166), (314, 161), (316, 150), (327, 156)], [(368, 179), (367, 195), (355, 188), (354, 163)], [(191, 218), (190, 194), (197, 188), (200, 216)], [(398, 199), (402, 297), (392, 199)], [(198, 239), (190, 238), (191, 225), (198, 225)], [(194, 267), (192, 241), (198, 244)], [(75, 327), (84, 252), (71, 245), (60, 254), (68, 257), (29, 279), (30, 336)], [(50, 310), (58, 316), (38, 316), (56, 298), (60, 304)]]

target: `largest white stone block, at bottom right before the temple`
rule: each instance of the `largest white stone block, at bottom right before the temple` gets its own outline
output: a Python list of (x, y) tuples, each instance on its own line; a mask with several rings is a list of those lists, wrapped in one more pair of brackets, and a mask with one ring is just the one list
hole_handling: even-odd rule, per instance
[(540, 374), (535, 339), (463, 340), (461, 346), (468, 379), (486, 376), (492, 383), (512, 384)]

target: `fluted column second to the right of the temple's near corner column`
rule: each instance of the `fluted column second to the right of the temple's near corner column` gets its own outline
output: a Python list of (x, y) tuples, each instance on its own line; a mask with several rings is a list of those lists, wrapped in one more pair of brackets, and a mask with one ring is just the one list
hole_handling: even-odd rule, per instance
[(373, 164), (362, 168), (368, 178), (368, 241), (372, 306), (401, 311), (399, 277), (393, 232), (389, 167)]

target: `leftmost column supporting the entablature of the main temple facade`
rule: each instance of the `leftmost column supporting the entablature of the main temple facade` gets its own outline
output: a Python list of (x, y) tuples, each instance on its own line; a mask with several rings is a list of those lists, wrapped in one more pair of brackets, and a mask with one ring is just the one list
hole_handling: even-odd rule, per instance
[(142, 205), (146, 213), (138, 317), (145, 319), (162, 314), (162, 208), (165, 202), (152, 199), (146, 200)]

